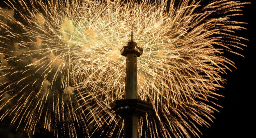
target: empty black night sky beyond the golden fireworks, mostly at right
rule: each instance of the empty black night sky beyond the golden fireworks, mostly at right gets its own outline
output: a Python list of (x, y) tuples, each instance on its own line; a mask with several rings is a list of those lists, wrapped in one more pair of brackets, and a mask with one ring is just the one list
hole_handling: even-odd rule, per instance
[[(207, 2), (207, 0), (203, 0)], [(210, 0), (209, 0), (210, 1)], [(236, 63), (238, 69), (231, 68), (233, 71), (227, 71), (224, 78), (227, 79), (224, 84), (225, 89), (220, 89), (218, 94), (225, 96), (220, 98), (217, 104), (223, 106), (218, 108), (220, 113), (215, 113), (216, 119), (214, 123), (210, 123), (210, 128), (200, 128), (202, 130), (202, 138), (240, 138), (252, 137), (255, 124), (255, 86), (256, 73), (255, 68), (255, 39), (256, 29), (253, 19), (255, 19), (255, 1), (240, 0), (243, 2), (251, 2), (250, 5), (245, 5), (243, 9), (244, 16), (236, 17), (238, 21), (247, 22), (245, 25), (248, 30), (239, 31), (240, 36), (248, 38), (249, 41), (244, 41), (248, 47), (244, 51), (239, 51), (245, 57), (228, 54), (227, 56)], [(2, 0), (0, 0), (2, 5)], [(251, 125), (251, 126), (250, 126)], [(1, 134), (2, 133), (2, 134)], [(8, 118), (0, 122), (0, 138), (3, 134), (8, 134), (8, 137), (26, 137), (26, 134), (19, 129), (15, 131), (15, 126), (10, 126)], [(5, 135), (6, 136), (6, 135)]]

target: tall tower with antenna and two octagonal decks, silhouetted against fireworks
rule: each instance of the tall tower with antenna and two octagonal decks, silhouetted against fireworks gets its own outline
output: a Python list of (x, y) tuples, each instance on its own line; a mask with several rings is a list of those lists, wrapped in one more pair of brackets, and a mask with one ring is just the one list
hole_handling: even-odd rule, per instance
[(111, 110), (124, 119), (125, 138), (138, 138), (138, 117), (152, 108), (149, 102), (138, 99), (137, 57), (140, 57), (142, 53), (143, 48), (138, 47), (133, 41), (132, 30), (131, 41), (121, 49), (121, 55), (126, 57), (125, 99), (116, 100), (110, 105)]

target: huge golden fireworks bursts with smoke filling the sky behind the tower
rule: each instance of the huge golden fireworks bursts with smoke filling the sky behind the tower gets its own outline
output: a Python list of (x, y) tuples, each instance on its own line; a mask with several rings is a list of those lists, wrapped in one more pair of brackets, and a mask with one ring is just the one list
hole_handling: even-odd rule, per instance
[[(239, 1), (7, 1), (0, 8), (0, 120), (37, 124), (76, 137), (122, 137), (109, 104), (124, 95), (131, 23), (139, 47), (138, 97), (153, 105), (139, 118), (139, 137), (191, 137), (209, 126), (219, 106), (221, 77), (240, 55)], [(24, 123), (25, 122), (25, 123)], [(93, 130), (95, 128), (95, 130)]]

